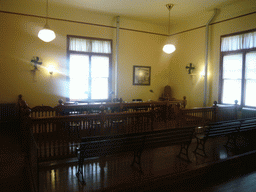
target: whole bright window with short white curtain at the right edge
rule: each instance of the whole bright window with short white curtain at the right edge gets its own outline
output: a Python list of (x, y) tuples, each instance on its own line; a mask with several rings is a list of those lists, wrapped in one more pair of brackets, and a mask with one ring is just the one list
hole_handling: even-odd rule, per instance
[(256, 107), (256, 31), (221, 37), (221, 94), (224, 104)]

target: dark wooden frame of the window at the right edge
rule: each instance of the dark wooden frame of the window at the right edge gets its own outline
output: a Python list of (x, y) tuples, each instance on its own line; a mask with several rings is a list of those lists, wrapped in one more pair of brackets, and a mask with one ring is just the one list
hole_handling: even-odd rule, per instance
[[(231, 36), (236, 36), (236, 35), (241, 35), (241, 34), (245, 34), (245, 33), (250, 33), (250, 32), (255, 32), (256, 29), (251, 29), (251, 30), (247, 30), (247, 31), (241, 31), (241, 32), (237, 32), (237, 33), (232, 33), (232, 34), (226, 34), (226, 35), (222, 35), (220, 37), (220, 73), (219, 73), (219, 95), (218, 95), (218, 101), (219, 103), (223, 104), (223, 105), (230, 105), (228, 103), (223, 103), (222, 97), (223, 97), (223, 58), (224, 56), (227, 55), (233, 55), (233, 54), (242, 54), (242, 82), (241, 82), (241, 103), (240, 106), (241, 107), (246, 107), (246, 108), (256, 108), (255, 106), (247, 106), (245, 105), (245, 65), (246, 65), (246, 54), (250, 53), (250, 52), (254, 52), (256, 51), (256, 48), (248, 48), (248, 49), (239, 49), (239, 50), (234, 50), (234, 51), (221, 51), (221, 40), (224, 37), (231, 37)], [(235, 101), (234, 101), (235, 104)]]

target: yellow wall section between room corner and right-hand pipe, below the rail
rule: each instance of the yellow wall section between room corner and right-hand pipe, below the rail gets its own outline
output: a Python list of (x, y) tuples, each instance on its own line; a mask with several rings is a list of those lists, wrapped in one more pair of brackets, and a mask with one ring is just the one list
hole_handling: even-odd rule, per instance
[[(188, 107), (200, 107), (203, 102), (204, 79), (200, 76), (203, 70), (205, 53), (204, 28), (172, 36), (170, 41), (176, 44), (176, 51), (169, 66), (169, 85), (174, 98), (187, 97)], [(188, 74), (186, 66), (195, 66)]]

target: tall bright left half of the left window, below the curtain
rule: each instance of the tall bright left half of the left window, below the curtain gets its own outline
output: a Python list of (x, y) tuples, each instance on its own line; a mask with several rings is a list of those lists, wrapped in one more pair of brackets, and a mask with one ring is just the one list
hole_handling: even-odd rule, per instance
[(70, 55), (70, 100), (88, 99), (89, 90), (89, 57), (86, 55)]

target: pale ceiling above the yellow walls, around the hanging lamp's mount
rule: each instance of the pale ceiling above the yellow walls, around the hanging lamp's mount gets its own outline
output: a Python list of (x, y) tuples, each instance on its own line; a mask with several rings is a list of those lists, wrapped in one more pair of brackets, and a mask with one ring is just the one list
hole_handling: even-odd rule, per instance
[[(184, 20), (189, 16), (213, 11), (244, 0), (49, 0), (59, 4), (87, 11), (100, 12), (152, 23), (166, 24), (169, 11), (166, 4), (174, 4), (171, 21)], [(252, 0), (255, 1), (255, 0)]]

